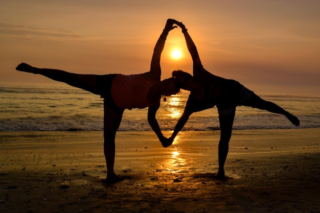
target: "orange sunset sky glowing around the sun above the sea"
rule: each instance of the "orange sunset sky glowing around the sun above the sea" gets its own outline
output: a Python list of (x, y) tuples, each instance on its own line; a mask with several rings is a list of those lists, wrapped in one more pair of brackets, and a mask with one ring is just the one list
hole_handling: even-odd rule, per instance
[[(257, 94), (320, 96), (320, 1), (2, 0), (0, 82), (53, 83), (20, 73), (20, 62), (82, 74), (138, 74), (150, 68), (167, 18), (182, 21), (211, 73)], [(174, 59), (173, 50), (181, 57)], [(192, 74), (180, 29), (161, 60)]]

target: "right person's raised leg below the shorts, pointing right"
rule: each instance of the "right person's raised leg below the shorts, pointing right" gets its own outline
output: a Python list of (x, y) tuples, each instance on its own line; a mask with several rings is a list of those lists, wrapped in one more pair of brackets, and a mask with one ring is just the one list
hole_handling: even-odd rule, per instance
[(273, 102), (263, 100), (262, 98), (257, 96), (255, 93), (252, 94), (251, 99), (246, 100), (243, 103), (243, 106), (250, 106), (253, 108), (267, 110), (267, 111), (273, 112), (273, 113), (283, 114), (295, 126), (300, 125), (300, 121), (299, 121), (298, 117), (294, 116), (293, 114), (289, 113), (288, 111), (284, 110), (283, 108), (281, 108), (280, 106), (278, 106), (277, 104), (275, 104)]

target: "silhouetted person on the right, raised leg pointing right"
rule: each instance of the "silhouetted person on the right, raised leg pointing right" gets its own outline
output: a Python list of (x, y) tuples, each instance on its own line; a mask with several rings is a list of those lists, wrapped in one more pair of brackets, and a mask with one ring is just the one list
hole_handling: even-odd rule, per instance
[(174, 23), (184, 33), (187, 47), (193, 60), (193, 78), (190, 74), (175, 73), (175, 77), (180, 79), (179, 81), (185, 82), (181, 88), (191, 92), (184, 113), (182, 113), (178, 120), (172, 136), (169, 138), (169, 141), (163, 139), (163, 144), (165, 143), (167, 146), (172, 144), (175, 136), (184, 127), (193, 112), (217, 106), (221, 132), (218, 147), (219, 169), (216, 176), (217, 178), (225, 178), (224, 163), (228, 153), (228, 144), (232, 134), (232, 125), (237, 106), (249, 106), (283, 114), (295, 126), (299, 126), (300, 121), (277, 104), (261, 99), (257, 94), (245, 88), (239, 82), (215, 76), (205, 70), (186, 27), (182, 22), (174, 20)]

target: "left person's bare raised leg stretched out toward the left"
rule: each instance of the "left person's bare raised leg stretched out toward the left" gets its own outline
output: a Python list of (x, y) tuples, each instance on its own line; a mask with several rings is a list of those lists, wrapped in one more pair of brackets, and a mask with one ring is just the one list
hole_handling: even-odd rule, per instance
[(16, 70), (27, 73), (39, 74), (48, 77), (52, 80), (64, 82), (68, 85), (87, 90), (94, 94), (98, 94), (96, 85), (96, 75), (68, 73), (59, 69), (37, 68), (30, 66), (26, 63), (19, 64), (16, 67)]

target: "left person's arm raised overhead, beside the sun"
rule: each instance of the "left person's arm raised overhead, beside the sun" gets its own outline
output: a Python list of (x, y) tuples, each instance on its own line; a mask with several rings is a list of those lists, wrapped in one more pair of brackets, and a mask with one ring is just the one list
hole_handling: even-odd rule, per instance
[(160, 57), (164, 49), (168, 33), (174, 28), (177, 28), (177, 26), (173, 26), (173, 24), (174, 20), (169, 18), (167, 20), (165, 29), (163, 30), (162, 34), (160, 35), (154, 46), (150, 72), (146, 73), (145, 75), (146, 78), (150, 81), (158, 81), (161, 79)]

